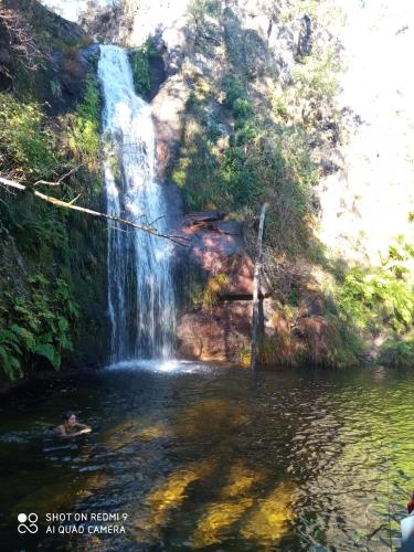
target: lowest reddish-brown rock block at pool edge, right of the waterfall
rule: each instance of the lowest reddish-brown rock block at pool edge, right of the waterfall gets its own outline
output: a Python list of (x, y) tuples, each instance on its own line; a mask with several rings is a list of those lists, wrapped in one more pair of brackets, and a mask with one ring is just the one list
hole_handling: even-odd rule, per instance
[(251, 337), (252, 301), (226, 301), (184, 315), (178, 327), (180, 353), (203, 361), (240, 360)]

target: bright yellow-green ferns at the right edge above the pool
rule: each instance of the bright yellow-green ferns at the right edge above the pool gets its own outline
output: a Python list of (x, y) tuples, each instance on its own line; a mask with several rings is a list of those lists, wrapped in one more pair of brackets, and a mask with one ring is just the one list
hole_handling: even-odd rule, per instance
[[(413, 364), (413, 341), (406, 338), (414, 322), (414, 280), (410, 264), (412, 245), (399, 236), (382, 266), (352, 268), (332, 289), (332, 327), (346, 331), (348, 351), (362, 352), (375, 337), (385, 337), (380, 360), (389, 365)], [(344, 335), (344, 333), (343, 333)]]

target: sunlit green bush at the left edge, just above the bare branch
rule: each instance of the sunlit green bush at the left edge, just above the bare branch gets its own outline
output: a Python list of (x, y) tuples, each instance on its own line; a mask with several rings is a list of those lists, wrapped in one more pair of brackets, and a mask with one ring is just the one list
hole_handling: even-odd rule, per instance
[(47, 178), (59, 168), (55, 139), (40, 106), (0, 94), (0, 170), (17, 166), (25, 179)]

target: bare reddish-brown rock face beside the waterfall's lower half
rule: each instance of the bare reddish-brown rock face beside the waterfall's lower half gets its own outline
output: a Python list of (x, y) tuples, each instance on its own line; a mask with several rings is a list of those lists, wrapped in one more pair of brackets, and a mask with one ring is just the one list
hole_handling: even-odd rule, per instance
[[(203, 302), (199, 310), (185, 306), (178, 325), (179, 351), (184, 358), (238, 362), (251, 343), (254, 274), (243, 225), (225, 221), (223, 212), (191, 213), (182, 217), (180, 233), (191, 240), (181, 261), (183, 274), (203, 274), (204, 289), (214, 287), (211, 283), (217, 277), (226, 278), (215, 304)], [(270, 294), (267, 283), (261, 293), (262, 297)]]

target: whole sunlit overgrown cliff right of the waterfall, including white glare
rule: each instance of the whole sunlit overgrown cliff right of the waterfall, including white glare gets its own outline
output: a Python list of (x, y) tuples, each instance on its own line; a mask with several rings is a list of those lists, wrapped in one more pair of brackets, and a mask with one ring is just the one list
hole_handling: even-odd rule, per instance
[[(180, 189), (184, 213), (229, 213), (195, 226), (179, 217), (192, 237), (178, 254), (184, 355), (243, 358), (250, 298), (229, 290), (251, 287), (263, 201), (264, 362), (354, 363), (367, 343), (410, 332), (410, 247), (392, 241), (412, 234), (410, 78), (395, 62), (410, 52), (411, 7), (351, 3), (125, 0), (81, 17), (131, 50), (159, 178)], [(358, 42), (367, 35), (370, 49)]]

